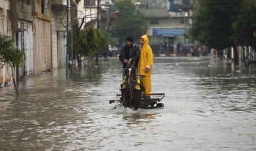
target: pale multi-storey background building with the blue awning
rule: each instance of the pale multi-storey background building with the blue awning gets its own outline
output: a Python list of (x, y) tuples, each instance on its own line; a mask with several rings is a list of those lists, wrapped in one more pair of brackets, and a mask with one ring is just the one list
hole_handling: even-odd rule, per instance
[[(173, 44), (175, 50), (178, 43), (188, 44), (183, 34), (188, 31), (190, 19), (189, 11), (184, 11), (183, 1), (150, 0), (150, 3), (135, 2), (135, 4), (148, 22), (149, 30), (146, 34), (150, 44), (168, 42)], [(175, 50), (173, 53), (176, 53)]]

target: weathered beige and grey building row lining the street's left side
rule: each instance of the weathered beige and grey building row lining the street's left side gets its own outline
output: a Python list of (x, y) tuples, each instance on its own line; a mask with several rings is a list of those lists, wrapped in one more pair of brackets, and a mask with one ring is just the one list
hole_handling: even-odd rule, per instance
[[(10, 1), (0, 0), (0, 32), (12, 36), (18, 49), (24, 53), (21, 67), (16, 68), (15, 78), (42, 71), (66, 67), (67, 3), (62, 0), (15, 1), (17, 18), (8, 21)], [(70, 11), (69, 11), (70, 12)], [(8, 65), (0, 68), (0, 86), (12, 82)]]

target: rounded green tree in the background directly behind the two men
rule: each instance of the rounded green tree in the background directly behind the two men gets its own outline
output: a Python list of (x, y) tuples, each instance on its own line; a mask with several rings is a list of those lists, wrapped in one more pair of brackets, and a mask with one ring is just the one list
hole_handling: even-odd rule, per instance
[(110, 32), (119, 37), (119, 43), (127, 36), (139, 39), (148, 30), (145, 16), (130, 0), (117, 0), (116, 5), (118, 13), (111, 22)]

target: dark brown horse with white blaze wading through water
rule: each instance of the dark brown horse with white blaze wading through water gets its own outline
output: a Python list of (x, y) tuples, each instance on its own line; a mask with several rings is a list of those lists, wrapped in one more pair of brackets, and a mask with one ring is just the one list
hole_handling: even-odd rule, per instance
[(127, 63), (126, 75), (121, 84), (122, 102), (124, 107), (130, 107), (137, 110), (140, 107), (140, 98), (143, 93), (144, 86), (141, 78), (137, 74), (134, 63)]

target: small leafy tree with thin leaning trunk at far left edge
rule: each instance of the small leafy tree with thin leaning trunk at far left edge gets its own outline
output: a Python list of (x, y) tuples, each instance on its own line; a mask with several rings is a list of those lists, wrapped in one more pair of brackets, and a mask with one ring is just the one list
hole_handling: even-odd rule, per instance
[(4, 63), (7, 63), (12, 68), (13, 83), (18, 97), (19, 94), (14, 79), (14, 68), (21, 65), (23, 53), (14, 47), (14, 42), (15, 40), (12, 37), (0, 34), (0, 64), (2, 68)]

